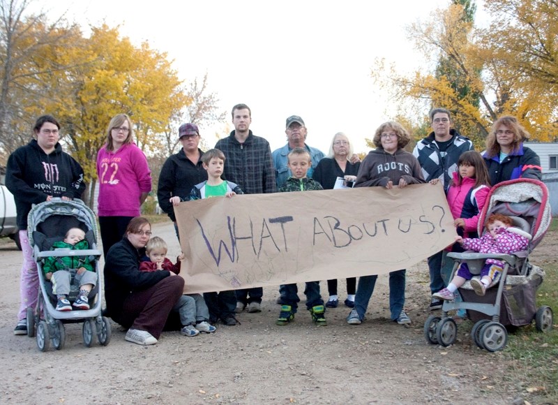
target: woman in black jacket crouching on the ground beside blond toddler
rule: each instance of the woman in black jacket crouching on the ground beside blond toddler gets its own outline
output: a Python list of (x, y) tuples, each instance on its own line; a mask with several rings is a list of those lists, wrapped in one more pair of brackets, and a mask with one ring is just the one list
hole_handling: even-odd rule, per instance
[[(108, 251), (104, 271), (107, 316), (129, 328), (127, 341), (144, 346), (157, 343), (184, 289), (184, 279), (174, 272), (140, 271), (150, 237), (151, 223), (147, 219), (131, 219), (122, 240)], [(178, 315), (176, 321), (179, 329)]]

